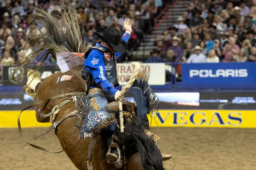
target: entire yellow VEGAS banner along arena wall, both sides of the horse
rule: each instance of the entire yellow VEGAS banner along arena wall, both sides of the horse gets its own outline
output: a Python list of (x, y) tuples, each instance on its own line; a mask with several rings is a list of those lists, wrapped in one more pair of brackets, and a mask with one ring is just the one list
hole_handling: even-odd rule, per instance
[[(0, 111), (0, 128), (16, 128), (20, 111)], [(21, 127), (49, 127), (39, 123), (33, 110), (22, 112)], [(151, 127), (256, 128), (255, 110), (159, 110)]]

